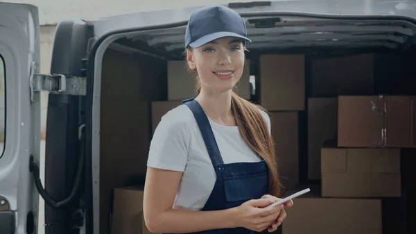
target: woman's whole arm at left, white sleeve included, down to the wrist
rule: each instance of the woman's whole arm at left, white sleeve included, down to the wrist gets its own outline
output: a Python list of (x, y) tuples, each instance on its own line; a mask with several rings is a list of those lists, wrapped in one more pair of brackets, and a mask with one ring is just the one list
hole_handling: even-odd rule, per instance
[(155, 129), (144, 188), (144, 220), (153, 233), (189, 233), (233, 226), (227, 218), (231, 210), (172, 209), (187, 165), (190, 138), (189, 119), (176, 111), (162, 117)]

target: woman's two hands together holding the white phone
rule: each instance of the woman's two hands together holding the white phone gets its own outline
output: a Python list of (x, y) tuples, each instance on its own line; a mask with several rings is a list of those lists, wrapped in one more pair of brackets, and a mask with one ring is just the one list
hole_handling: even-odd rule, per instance
[(283, 206), (266, 208), (274, 203), (273, 197), (263, 199), (253, 199), (246, 201), (234, 210), (234, 224), (237, 227), (248, 228), (252, 231), (261, 232), (275, 223), (281, 214)]

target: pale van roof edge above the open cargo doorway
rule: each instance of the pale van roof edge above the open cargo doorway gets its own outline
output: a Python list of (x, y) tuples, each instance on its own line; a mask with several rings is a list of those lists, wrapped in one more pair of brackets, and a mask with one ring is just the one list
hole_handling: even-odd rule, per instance
[[(254, 2), (255, 3), (255, 2)], [(228, 6), (223, 4), (223, 6)], [(88, 21), (94, 25), (94, 35), (101, 37), (113, 31), (134, 30), (164, 24), (187, 23), (192, 12), (201, 6), (135, 12), (125, 15), (102, 17)], [(252, 6), (249, 8), (234, 8), (243, 17), (250, 15), (315, 15), (331, 17), (409, 17), (416, 18), (416, 5), (410, 1), (384, 0), (286, 0), (270, 1), (270, 6)], [(247, 22), (246, 22), (247, 23)], [(250, 34), (250, 32), (249, 32)]]

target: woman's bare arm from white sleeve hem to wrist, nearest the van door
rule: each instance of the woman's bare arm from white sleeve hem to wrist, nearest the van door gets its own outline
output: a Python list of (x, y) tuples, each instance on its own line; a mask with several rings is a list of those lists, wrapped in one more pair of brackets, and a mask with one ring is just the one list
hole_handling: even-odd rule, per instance
[(236, 209), (193, 211), (172, 209), (182, 172), (148, 167), (144, 189), (144, 220), (152, 233), (190, 233), (235, 226)]

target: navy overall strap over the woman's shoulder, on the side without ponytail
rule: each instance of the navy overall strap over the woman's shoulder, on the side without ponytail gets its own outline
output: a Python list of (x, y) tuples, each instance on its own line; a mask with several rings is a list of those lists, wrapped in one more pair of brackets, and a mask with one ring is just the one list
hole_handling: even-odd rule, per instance
[(218, 149), (218, 144), (216, 143), (214, 133), (212, 132), (211, 124), (209, 124), (209, 119), (207, 115), (205, 115), (205, 112), (202, 110), (198, 101), (195, 99), (188, 99), (186, 101), (182, 101), (182, 103), (188, 106), (198, 123), (198, 127), (202, 133), (202, 138), (204, 139), (212, 164), (214, 166), (223, 164), (223, 157), (221, 157), (220, 149)]

